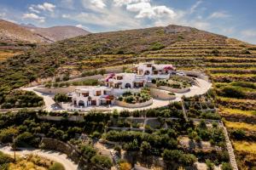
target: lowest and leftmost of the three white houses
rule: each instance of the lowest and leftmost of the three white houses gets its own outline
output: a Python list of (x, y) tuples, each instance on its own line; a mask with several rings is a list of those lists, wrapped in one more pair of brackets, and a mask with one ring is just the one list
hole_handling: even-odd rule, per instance
[(73, 107), (113, 105), (112, 89), (107, 87), (77, 88), (71, 94)]

